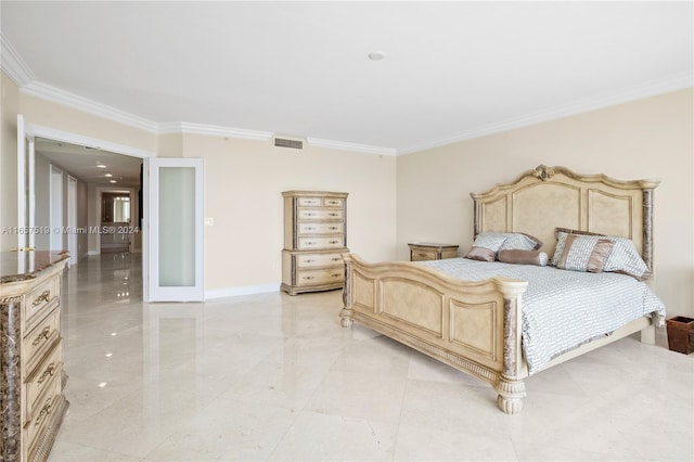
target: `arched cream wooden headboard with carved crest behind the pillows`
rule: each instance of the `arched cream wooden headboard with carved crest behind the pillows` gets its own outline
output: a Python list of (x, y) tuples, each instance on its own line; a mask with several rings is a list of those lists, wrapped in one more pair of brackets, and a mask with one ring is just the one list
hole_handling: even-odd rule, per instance
[(659, 180), (621, 181), (538, 166), (510, 183), (471, 193), (474, 235), (525, 232), (540, 239), (552, 257), (554, 229), (569, 228), (629, 238), (653, 270), (653, 190)]

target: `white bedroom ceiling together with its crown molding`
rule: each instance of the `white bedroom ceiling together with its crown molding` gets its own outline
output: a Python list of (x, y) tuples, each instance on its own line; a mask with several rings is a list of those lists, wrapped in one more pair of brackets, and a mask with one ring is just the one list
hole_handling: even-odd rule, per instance
[[(37, 84), (166, 125), (407, 153), (691, 87), (693, 2), (2, 1)], [(370, 61), (383, 51), (382, 61)], [(16, 61), (16, 60), (15, 60)]]

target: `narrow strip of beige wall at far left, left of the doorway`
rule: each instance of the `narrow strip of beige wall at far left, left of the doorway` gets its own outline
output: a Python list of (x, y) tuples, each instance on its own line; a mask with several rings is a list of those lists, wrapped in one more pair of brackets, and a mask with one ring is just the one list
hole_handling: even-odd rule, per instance
[[(17, 112), (20, 90), (0, 73), (0, 230), (17, 226)], [(0, 249), (16, 247), (17, 236), (0, 232)]]

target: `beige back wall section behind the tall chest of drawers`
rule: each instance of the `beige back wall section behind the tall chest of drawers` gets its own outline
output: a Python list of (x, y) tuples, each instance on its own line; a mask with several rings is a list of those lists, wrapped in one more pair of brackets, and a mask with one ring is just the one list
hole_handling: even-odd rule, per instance
[(282, 191), (348, 192), (347, 244), (371, 260), (395, 258), (396, 158), (272, 141), (184, 134), (185, 157), (205, 162), (208, 290), (282, 279)]

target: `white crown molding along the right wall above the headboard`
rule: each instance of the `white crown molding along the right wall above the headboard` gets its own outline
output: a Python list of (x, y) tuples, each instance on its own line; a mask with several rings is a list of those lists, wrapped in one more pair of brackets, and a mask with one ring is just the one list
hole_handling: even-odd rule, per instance
[(522, 117), (515, 117), (501, 121), (499, 124), (490, 124), (478, 128), (462, 131), (450, 137), (433, 140), (427, 143), (398, 150), (398, 155), (412, 154), (421, 151), (427, 151), (434, 147), (457, 143), (460, 141), (472, 140), (474, 138), (485, 137), (487, 134), (499, 133), (502, 131), (514, 130), (516, 128), (527, 127), (530, 125), (541, 124), (543, 121), (555, 120), (576, 114), (587, 113), (590, 111), (601, 110), (617, 104), (628, 103), (630, 101), (641, 100), (644, 98), (656, 97), (658, 94), (668, 93), (670, 91), (683, 90), (694, 87), (694, 73), (686, 72), (676, 74), (670, 77), (650, 80), (638, 86), (630, 87), (617, 93), (591, 98), (569, 105), (557, 106), (548, 111), (528, 114)]

